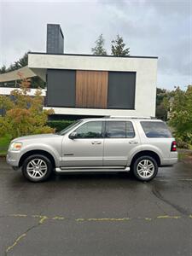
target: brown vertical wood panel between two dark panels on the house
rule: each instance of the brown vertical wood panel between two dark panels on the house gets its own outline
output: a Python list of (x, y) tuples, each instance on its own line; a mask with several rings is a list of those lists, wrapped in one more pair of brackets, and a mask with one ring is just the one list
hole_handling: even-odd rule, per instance
[(108, 71), (76, 72), (76, 108), (107, 108)]

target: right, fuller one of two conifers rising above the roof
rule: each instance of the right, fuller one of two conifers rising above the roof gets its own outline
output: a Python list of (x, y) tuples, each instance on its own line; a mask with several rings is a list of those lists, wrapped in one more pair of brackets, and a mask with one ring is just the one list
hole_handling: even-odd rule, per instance
[(125, 48), (124, 39), (117, 35), (117, 37), (111, 41), (111, 54), (114, 56), (128, 56), (130, 55), (130, 49)]

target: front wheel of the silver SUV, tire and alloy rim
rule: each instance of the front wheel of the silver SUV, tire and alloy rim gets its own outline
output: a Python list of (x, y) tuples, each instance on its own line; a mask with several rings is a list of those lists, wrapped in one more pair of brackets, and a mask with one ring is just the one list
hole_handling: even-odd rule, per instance
[[(38, 165), (41, 163), (40, 167)], [(36, 164), (36, 165), (35, 165)], [(32, 167), (34, 166), (34, 169)], [(31, 169), (32, 171), (31, 171)], [(38, 168), (36, 170), (36, 168)], [(23, 176), (26, 177), (29, 181), (33, 183), (39, 183), (47, 180), (50, 175), (53, 173), (53, 166), (48, 157), (43, 154), (32, 154), (24, 160), (22, 165)], [(32, 174), (35, 173), (36, 177), (32, 177)], [(43, 174), (42, 174), (43, 173)]]

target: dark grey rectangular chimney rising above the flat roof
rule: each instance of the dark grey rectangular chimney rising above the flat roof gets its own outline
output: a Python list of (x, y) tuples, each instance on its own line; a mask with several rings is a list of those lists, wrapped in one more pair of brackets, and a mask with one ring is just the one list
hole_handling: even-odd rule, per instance
[(59, 24), (47, 24), (47, 53), (63, 54), (64, 37)]

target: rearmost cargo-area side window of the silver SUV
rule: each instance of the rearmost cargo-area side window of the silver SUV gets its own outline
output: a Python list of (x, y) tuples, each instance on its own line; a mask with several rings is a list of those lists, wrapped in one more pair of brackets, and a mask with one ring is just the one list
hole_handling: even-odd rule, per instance
[(171, 131), (163, 122), (142, 121), (141, 125), (147, 137), (172, 137)]

